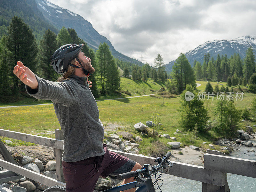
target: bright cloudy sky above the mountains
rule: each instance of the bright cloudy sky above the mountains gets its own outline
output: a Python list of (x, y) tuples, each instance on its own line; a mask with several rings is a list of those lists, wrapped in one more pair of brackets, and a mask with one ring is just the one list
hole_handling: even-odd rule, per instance
[(92, 23), (115, 49), (154, 63), (177, 59), (206, 41), (256, 34), (251, 0), (49, 0)]

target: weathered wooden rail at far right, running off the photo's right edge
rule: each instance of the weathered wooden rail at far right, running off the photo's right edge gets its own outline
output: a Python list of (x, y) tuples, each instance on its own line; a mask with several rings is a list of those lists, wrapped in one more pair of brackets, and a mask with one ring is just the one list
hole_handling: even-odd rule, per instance
[(256, 161), (204, 154), (204, 168), (256, 178)]

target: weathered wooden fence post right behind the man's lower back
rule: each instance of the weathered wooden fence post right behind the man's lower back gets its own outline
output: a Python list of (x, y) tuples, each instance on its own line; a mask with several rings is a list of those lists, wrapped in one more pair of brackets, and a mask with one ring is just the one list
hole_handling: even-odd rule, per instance
[[(55, 129), (55, 139), (58, 139), (58, 140), (64, 139), (64, 135), (60, 129)], [(62, 161), (61, 161), (63, 150), (60, 150), (57, 148), (53, 148), (53, 149), (54, 149), (54, 157), (56, 160), (56, 175), (57, 175), (56, 179), (65, 183), (63, 169), (62, 169)]]

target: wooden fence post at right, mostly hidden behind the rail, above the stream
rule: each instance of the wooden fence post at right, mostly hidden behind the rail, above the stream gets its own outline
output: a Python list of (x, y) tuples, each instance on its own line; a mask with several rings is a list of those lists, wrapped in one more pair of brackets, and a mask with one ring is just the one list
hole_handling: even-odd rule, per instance
[[(213, 154), (213, 155), (222, 155), (227, 156), (225, 153), (222, 153), (220, 151), (214, 151), (207, 149), (206, 153)], [(212, 184), (207, 184), (202, 182), (202, 192), (230, 192), (228, 187), (228, 181), (227, 181), (227, 173), (225, 172), (226, 179), (225, 179), (225, 185), (224, 186), (216, 186)]]

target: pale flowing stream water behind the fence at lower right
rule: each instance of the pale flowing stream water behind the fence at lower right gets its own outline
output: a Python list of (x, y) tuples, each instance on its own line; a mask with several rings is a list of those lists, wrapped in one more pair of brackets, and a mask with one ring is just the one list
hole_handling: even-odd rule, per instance
[[(251, 140), (256, 142), (255, 140)], [(247, 150), (256, 148), (253, 147), (240, 147), (238, 150), (234, 150), (231, 153), (232, 157), (256, 160), (256, 152), (248, 153)], [(173, 165), (175, 166), (175, 165)], [(202, 191), (202, 182), (175, 177), (173, 175), (163, 174), (161, 177), (164, 180), (164, 184), (161, 187), (163, 192), (195, 192)], [(255, 192), (256, 191), (256, 178), (245, 177), (241, 175), (235, 175), (227, 173), (228, 186), (231, 192)], [(158, 182), (159, 184), (162, 181)], [(155, 185), (155, 188), (156, 185)], [(159, 190), (156, 190), (159, 192)]]

